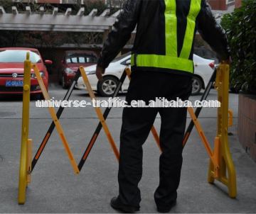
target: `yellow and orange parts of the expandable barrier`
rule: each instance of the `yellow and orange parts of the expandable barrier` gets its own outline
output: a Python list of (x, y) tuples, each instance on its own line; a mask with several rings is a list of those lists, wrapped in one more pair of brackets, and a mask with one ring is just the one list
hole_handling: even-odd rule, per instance
[[(26, 61), (24, 62), (24, 80), (23, 80), (23, 113), (22, 113), (22, 130), (21, 130), (21, 159), (20, 159), (20, 170), (19, 170), (19, 180), (18, 180), (18, 203), (24, 204), (26, 201), (26, 187), (31, 183), (31, 159), (32, 159), (32, 140), (28, 139), (28, 130), (29, 130), (29, 104), (30, 104), (30, 89), (31, 89), (31, 68), (33, 68), (36, 77), (38, 79), (38, 84), (41, 87), (43, 96), (46, 100), (50, 100), (50, 96), (46, 90), (46, 86), (43, 84), (43, 79), (41, 78), (40, 72), (36, 64), (31, 64), (29, 60), (29, 53), (27, 54)], [(126, 70), (127, 76), (129, 77), (131, 71), (129, 68)], [(85, 82), (87, 91), (90, 94), (90, 98), (96, 99), (95, 94), (92, 91), (90, 82), (85, 73), (84, 67), (80, 67), (80, 74), (82, 79)], [(208, 142), (206, 135), (203, 133), (201, 124), (196, 118), (193, 108), (188, 108), (188, 113), (190, 114), (193, 123), (196, 126), (199, 136), (203, 142), (203, 145), (206, 147), (206, 152), (210, 157), (210, 164), (208, 169), (208, 182), (213, 183), (215, 179), (222, 182), (228, 186), (229, 196), (235, 198), (237, 194), (236, 189), (236, 176), (235, 176), (235, 167), (233, 160), (231, 158), (230, 149), (228, 145), (228, 126), (233, 124), (233, 112), (228, 110), (228, 83), (229, 83), (229, 66), (227, 64), (220, 64), (218, 67), (215, 89), (218, 90), (218, 101), (220, 101), (221, 106), (218, 108), (218, 132), (215, 137), (214, 150), (211, 150), (210, 143)], [(48, 108), (50, 116), (53, 118), (53, 123), (60, 135), (60, 139), (63, 142), (65, 151), (68, 153), (71, 165), (75, 171), (75, 174), (79, 174), (80, 169), (78, 164), (76, 164), (73, 157), (73, 153), (70, 150), (68, 141), (65, 138), (63, 128), (59, 123), (58, 117), (55, 114), (54, 108)], [(105, 118), (102, 114), (100, 108), (95, 108), (97, 117), (102, 124), (102, 128), (105, 130), (107, 139), (110, 142), (112, 150), (115, 157), (119, 160), (119, 151), (117, 146), (114, 143), (114, 139), (110, 133), (110, 130), (107, 126)], [(157, 145), (160, 150), (159, 135), (156, 132), (154, 126), (151, 128), (151, 133), (156, 140)], [(227, 176), (228, 171), (228, 176)]]

